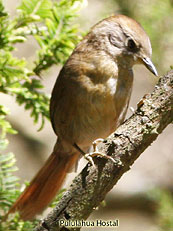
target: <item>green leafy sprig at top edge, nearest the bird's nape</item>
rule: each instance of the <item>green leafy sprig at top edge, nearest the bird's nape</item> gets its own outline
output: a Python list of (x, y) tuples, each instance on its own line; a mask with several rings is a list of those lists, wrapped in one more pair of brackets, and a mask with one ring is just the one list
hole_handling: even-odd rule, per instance
[(73, 1), (61, 1), (52, 7), (51, 15), (45, 19), (48, 32), (42, 30), (41, 37), (35, 35), (40, 45), (38, 61), (34, 68), (36, 74), (42, 69), (47, 69), (52, 64), (64, 63), (77, 41), (76, 25), (70, 26), (78, 8), (72, 7)]

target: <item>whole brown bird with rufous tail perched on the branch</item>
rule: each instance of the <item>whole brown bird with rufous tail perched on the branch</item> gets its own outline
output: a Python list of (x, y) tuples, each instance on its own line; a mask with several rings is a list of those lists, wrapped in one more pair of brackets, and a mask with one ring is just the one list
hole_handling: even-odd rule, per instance
[(24, 220), (41, 213), (81, 152), (116, 130), (128, 108), (133, 65), (144, 64), (157, 75), (151, 53), (149, 37), (129, 17), (111, 16), (91, 28), (62, 68), (52, 92), (50, 117), (58, 136), (53, 153), (9, 213), (19, 211)]

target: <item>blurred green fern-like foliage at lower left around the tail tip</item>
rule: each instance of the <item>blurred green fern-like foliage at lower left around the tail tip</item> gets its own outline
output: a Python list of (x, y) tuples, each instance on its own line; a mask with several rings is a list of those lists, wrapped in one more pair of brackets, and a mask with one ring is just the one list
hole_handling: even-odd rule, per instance
[(7, 221), (1, 220), (20, 194), (17, 189), (19, 187), (18, 178), (14, 175), (17, 171), (15, 156), (13, 153), (2, 153), (7, 145), (6, 139), (0, 141), (0, 231), (33, 230), (38, 221), (22, 221), (17, 213), (10, 216)]

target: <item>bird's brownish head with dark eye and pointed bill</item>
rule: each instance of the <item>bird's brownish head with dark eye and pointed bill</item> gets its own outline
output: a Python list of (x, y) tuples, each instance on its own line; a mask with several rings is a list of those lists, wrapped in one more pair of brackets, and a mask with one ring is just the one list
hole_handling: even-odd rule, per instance
[(99, 47), (122, 65), (144, 64), (154, 75), (157, 70), (151, 61), (152, 48), (148, 35), (135, 20), (117, 15), (96, 24), (91, 31)]

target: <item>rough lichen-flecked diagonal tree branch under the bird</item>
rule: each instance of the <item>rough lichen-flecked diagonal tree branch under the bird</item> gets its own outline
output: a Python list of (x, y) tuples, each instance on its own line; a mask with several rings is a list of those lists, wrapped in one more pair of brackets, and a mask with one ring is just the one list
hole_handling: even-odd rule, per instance
[(151, 94), (138, 103), (135, 113), (104, 142), (102, 152), (116, 164), (95, 158), (96, 168), (86, 165), (69, 190), (37, 231), (80, 230), (60, 226), (60, 220), (86, 220), (139, 155), (173, 121), (173, 70), (160, 78)]

